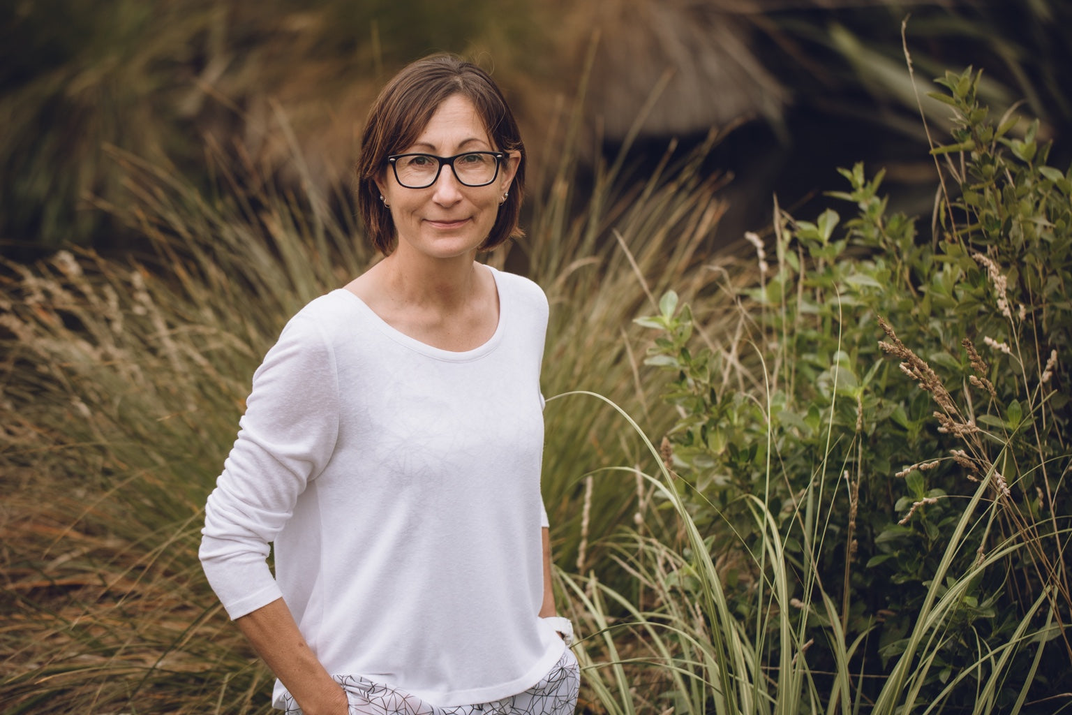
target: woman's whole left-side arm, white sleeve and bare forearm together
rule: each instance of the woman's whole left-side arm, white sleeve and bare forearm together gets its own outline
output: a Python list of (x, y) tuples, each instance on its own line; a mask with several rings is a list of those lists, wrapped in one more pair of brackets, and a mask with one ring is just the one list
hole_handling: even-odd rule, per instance
[(304, 311), (292, 318), (254, 373), (206, 504), (199, 555), (228, 615), (306, 715), (346, 715), (346, 694), (310, 650), (265, 561), (338, 435), (334, 359), (317, 321)]

